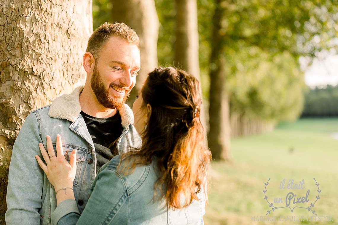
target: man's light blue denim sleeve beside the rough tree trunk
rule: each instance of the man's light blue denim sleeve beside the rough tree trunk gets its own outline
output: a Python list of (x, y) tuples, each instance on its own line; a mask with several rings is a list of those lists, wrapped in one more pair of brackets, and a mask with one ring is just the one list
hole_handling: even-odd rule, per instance
[(44, 173), (35, 155), (41, 156), (37, 116), (31, 112), (14, 143), (9, 165), (6, 224), (40, 224)]

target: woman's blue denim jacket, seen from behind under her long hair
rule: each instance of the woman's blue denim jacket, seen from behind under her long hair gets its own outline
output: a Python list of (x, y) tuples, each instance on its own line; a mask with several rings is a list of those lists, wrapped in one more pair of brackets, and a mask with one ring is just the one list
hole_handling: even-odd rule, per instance
[[(120, 156), (100, 168), (90, 190), (90, 198), (81, 216), (76, 201), (67, 199), (61, 202), (52, 213), (52, 221), (58, 225), (201, 225), (206, 204), (204, 191), (197, 194), (200, 200), (182, 209), (170, 209), (164, 199), (154, 197), (154, 184), (159, 177), (158, 161), (136, 167), (134, 172), (125, 175), (120, 171), (130, 166)], [(158, 193), (160, 194), (160, 192)], [(184, 199), (181, 199), (185, 202)]]

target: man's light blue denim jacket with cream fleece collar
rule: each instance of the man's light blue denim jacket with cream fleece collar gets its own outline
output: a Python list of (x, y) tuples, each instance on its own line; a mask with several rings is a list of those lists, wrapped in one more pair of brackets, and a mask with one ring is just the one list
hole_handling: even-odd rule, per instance
[[(61, 135), (68, 161), (72, 150), (77, 149), (73, 189), (79, 212), (86, 206), (96, 176), (96, 155), (92, 138), (80, 114), (79, 95), (82, 90), (83, 86), (77, 87), (71, 94), (55, 99), (51, 105), (32, 111), (22, 125), (9, 166), (7, 225), (53, 224), (51, 213), (56, 208), (55, 191), (34, 157), (39, 155), (42, 158), (38, 143), (47, 147), (46, 135), (51, 136), (54, 148), (56, 135)], [(124, 104), (119, 113), (123, 132), (118, 140), (118, 151), (123, 153), (140, 147), (141, 138), (132, 125), (134, 116), (129, 106)]]

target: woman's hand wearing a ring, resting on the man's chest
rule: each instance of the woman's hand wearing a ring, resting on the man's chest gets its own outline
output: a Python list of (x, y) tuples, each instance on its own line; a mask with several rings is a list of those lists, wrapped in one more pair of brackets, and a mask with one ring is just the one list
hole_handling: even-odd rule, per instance
[[(76, 174), (76, 150), (74, 149), (70, 154), (70, 163), (65, 159), (63, 150), (61, 136), (56, 136), (56, 154), (53, 149), (53, 143), (50, 136), (47, 135), (47, 150), (46, 152), (42, 143), (39, 143), (40, 151), (43, 158), (45, 159), (46, 164), (43, 163), (41, 158), (36, 155), (40, 167), (46, 173), (49, 182), (53, 185), (55, 191), (62, 188), (72, 188), (73, 181)], [(68, 189), (67, 189), (68, 190)]]

